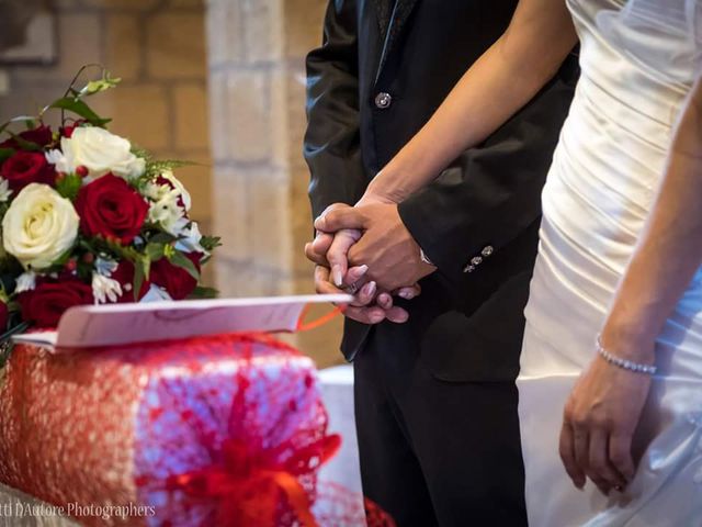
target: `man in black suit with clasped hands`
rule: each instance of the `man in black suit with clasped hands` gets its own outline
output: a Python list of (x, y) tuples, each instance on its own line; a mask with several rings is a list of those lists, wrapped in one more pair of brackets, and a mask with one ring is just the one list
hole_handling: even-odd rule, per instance
[[(315, 216), (363, 195), (506, 30), (516, 3), (329, 1), (324, 44), (307, 57), (305, 157)], [(347, 318), (341, 345), (354, 363), (364, 493), (400, 527), (526, 522), (514, 378), (540, 193), (575, 61), (569, 57), (529, 104), (433, 184), (370, 217), (378, 228), (364, 236), (393, 247), (376, 259), (403, 261), (406, 285), (420, 280), (422, 291), (395, 299), (409, 314), (405, 324), (392, 322), (397, 309), (375, 325), (354, 310), (366, 324)], [(328, 290), (325, 255), (308, 256), (321, 271), (318, 290)], [(392, 277), (374, 278), (384, 287)]]

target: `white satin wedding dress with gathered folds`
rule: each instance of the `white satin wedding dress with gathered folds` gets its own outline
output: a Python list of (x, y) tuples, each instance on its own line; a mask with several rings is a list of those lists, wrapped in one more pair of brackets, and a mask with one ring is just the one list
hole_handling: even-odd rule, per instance
[(558, 457), (558, 435), (701, 69), (702, 0), (567, 2), (582, 74), (543, 192), (518, 379), (530, 525), (699, 527), (702, 271), (657, 339), (659, 373), (636, 434), (641, 462), (626, 495), (607, 498), (591, 483), (576, 490)]

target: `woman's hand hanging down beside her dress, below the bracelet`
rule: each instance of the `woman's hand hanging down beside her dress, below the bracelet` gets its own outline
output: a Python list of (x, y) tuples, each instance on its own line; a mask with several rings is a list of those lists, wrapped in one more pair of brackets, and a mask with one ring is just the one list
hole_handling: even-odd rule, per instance
[[(616, 346), (607, 349), (642, 362), (641, 357), (653, 357), (653, 343), (647, 347), (631, 355)], [(563, 464), (578, 489), (586, 476), (605, 495), (631, 482), (632, 438), (649, 388), (650, 375), (610, 365), (600, 356), (582, 373), (565, 406), (559, 445)]]

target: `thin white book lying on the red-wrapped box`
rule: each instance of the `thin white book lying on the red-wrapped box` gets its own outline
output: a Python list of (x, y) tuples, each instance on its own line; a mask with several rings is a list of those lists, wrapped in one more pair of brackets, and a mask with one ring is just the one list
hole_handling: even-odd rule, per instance
[(235, 332), (293, 332), (305, 305), (352, 300), (348, 294), (326, 294), (81, 305), (64, 313), (55, 332), (23, 333), (12, 339), (60, 350)]

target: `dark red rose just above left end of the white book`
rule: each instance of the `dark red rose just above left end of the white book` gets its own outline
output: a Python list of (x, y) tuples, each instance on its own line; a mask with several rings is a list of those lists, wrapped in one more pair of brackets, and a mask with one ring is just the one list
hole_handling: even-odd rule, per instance
[(39, 281), (18, 295), (22, 318), (38, 327), (56, 327), (64, 312), (73, 305), (92, 304), (92, 288), (77, 278)]

